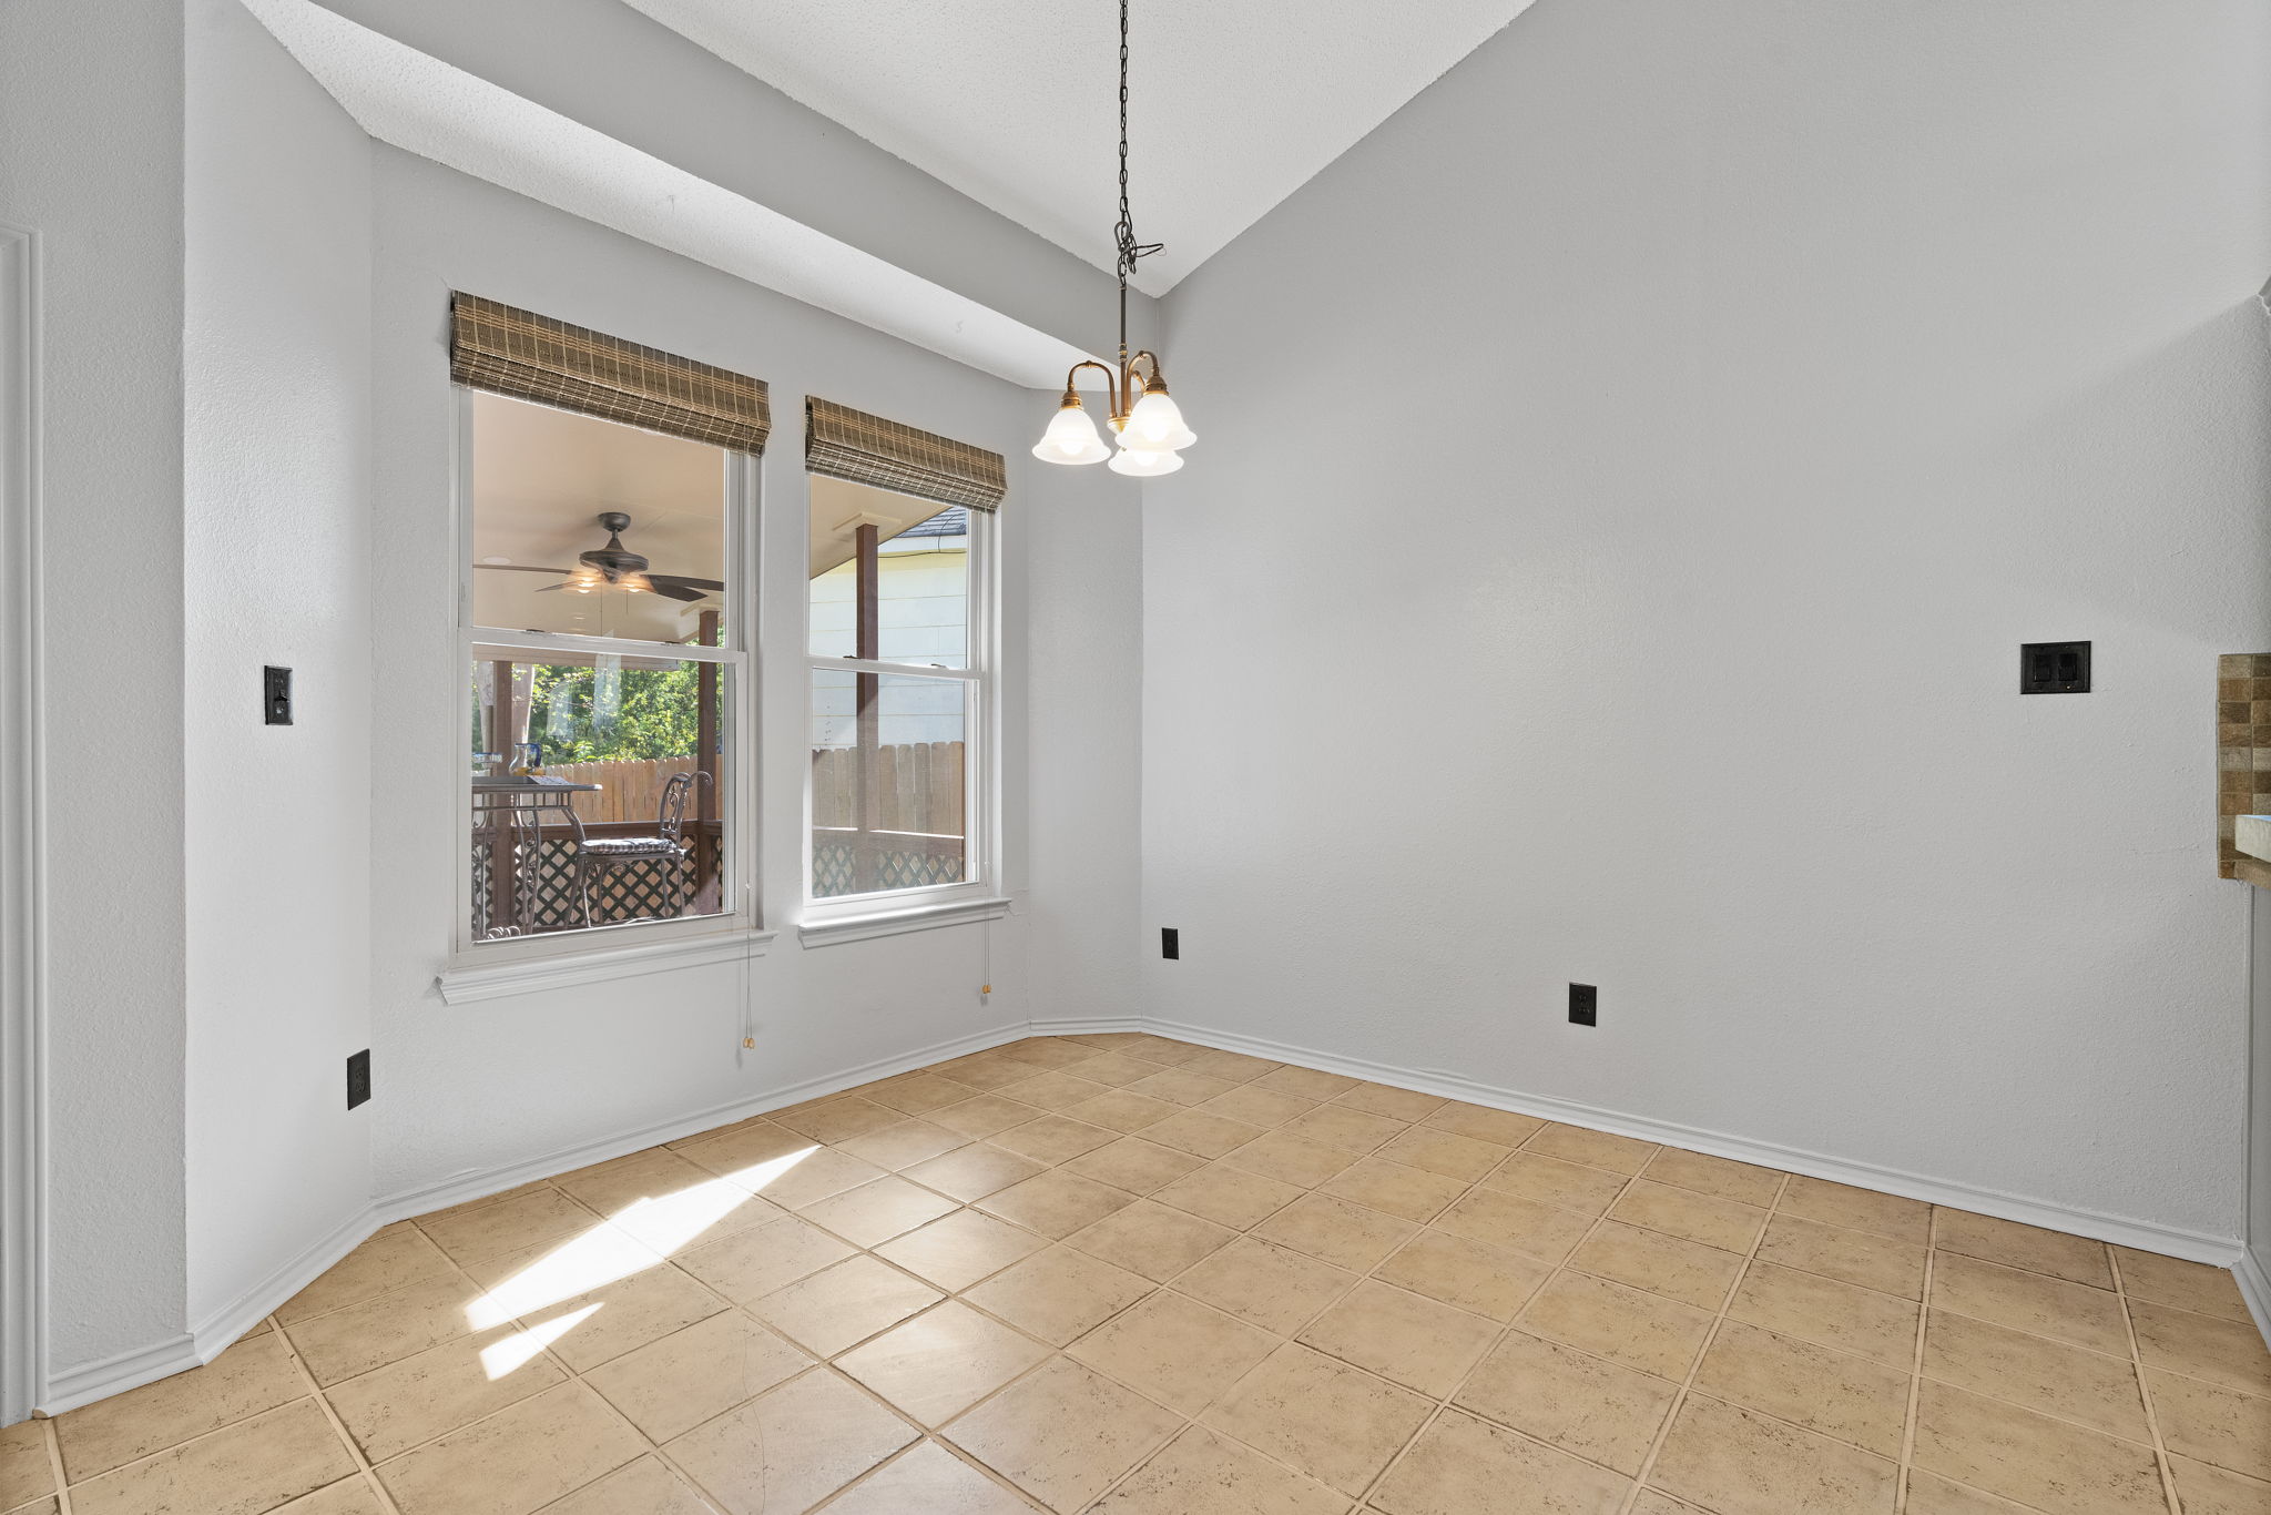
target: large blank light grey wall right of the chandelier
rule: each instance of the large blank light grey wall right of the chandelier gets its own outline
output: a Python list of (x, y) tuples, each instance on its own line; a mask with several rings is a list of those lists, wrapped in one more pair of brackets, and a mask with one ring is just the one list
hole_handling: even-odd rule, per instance
[(2235, 1238), (2264, 30), (1544, 0), (1185, 282), (1154, 1011)]

